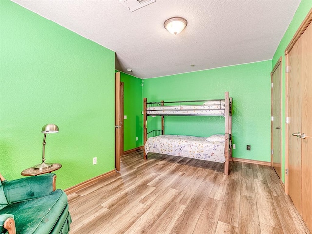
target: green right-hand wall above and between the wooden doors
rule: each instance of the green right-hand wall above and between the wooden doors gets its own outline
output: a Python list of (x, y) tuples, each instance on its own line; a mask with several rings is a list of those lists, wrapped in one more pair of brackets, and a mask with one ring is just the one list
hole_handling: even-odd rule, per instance
[(292, 37), (298, 30), (300, 24), (307, 16), (308, 12), (312, 7), (312, 0), (302, 0), (295, 15), (292, 18), (290, 25), (288, 26), (287, 31), (285, 32), (281, 42), (279, 43), (277, 50), (272, 59), (272, 69), (275, 66), (276, 62), (280, 57), (282, 57), (282, 71), (283, 71), (283, 79), (282, 79), (282, 120), (283, 120), (283, 128), (282, 128), (282, 180), (285, 182), (285, 49), (291, 41)]

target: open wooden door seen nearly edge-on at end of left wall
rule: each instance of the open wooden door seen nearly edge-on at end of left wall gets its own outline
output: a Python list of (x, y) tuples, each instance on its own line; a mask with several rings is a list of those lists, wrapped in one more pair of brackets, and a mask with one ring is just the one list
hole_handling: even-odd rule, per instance
[(115, 73), (115, 168), (120, 171), (121, 156), (121, 98), (120, 98), (120, 72)]

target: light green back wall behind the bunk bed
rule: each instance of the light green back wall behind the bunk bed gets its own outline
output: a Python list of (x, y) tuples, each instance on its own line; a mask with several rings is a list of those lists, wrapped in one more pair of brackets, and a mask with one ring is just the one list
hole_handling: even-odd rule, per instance
[[(233, 97), (233, 157), (270, 161), (271, 60), (172, 76), (144, 79), (148, 101)], [(159, 126), (148, 118), (148, 130)], [(157, 122), (157, 123), (156, 123)], [(167, 134), (209, 136), (224, 133), (223, 117), (166, 117)], [(251, 145), (251, 151), (246, 150)]]

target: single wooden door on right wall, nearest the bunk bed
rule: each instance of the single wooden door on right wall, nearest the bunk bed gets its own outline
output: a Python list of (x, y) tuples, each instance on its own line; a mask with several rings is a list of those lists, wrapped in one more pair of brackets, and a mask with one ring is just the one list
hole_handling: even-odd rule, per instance
[(271, 72), (271, 161), (274, 170), (281, 179), (281, 61), (278, 60)]

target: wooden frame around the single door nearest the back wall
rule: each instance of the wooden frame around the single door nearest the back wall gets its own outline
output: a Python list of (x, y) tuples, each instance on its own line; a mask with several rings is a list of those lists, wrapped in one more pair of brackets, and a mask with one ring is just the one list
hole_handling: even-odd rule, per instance
[[(282, 127), (282, 80), (283, 80), (282, 57), (280, 57), (278, 59), (273, 70), (271, 71), (271, 84), (273, 83), (273, 74), (277, 70), (278, 66), (280, 69), (280, 78), (279, 78), (279, 82), (280, 82), (280, 97), (279, 97), (279, 99), (280, 99), (280, 106), (279, 106), (280, 123), (279, 123), (279, 126)], [(273, 117), (273, 87), (272, 86), (271, 86), (271, 117)], [(280, 129), (279, 137), (280, 137), (280, 162), (281, 162), (280, 175), (282, 175), (282, 162), (283, 162), (282, 129)], [(271, 150), (273, 150), (273, 121), (272, 121), (272, 119), (271, 119)], [(273, 154), (274, 154), (274, 152), (273, 152)], [(273, 167), (273, 154), (271, 153), (271, 166), (272, 167)], [(280, 182), (282, 183), (282, 176), (280, 176)]]

